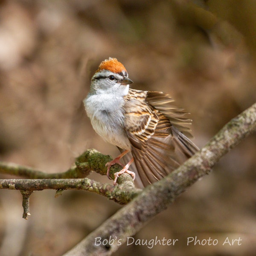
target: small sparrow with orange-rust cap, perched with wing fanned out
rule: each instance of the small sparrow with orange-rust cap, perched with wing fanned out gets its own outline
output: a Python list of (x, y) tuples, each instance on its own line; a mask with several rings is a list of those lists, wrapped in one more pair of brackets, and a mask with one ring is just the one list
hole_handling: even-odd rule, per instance
[[(102, 61), (91, 79), (84, 107), (96, 133), (121, 151), (107, 163), (107, 176), (113, 164), (123, 167), (115, 174), (114, 185), (124, 172), (135, 178), (128, 170), (134, 161), (143, 186), (147, 186), (177, 169), (198, 147), (188, 139), (191, 134), (186, 125), (191, 120), (184, 117), (182, 108), (171, 104), (174, 100), (168, 94), (129, 89), (131, 83), (116, 58)], [(124, 166), (120, 158), (128, 155), (131, 159)]]

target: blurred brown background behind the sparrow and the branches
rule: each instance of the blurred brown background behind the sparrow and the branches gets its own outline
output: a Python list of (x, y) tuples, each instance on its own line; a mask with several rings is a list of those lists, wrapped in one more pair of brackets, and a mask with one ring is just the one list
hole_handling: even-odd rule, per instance
[[(133, 88), (165, 91), (186, 108), (202, 147), (256, 102), (255, 13), (253, 0), (0, 1), (0, 160), (63, 172), (87, 148), (116, 156), (82, 105), (109, 56)], [(255, 142), (245, 139), (134, 237), (175, 246), (123, 245), (115, 255), (255, 255)], [(120, 208), (90, 192), (54, 194), (34, 192), (25, 221), (20, 193), (0, 191), (1, 256), (61, 255)], [(187, 246), (195, 236), (218, 244)], [(241, 245), (222, 245), (227, 236)]]

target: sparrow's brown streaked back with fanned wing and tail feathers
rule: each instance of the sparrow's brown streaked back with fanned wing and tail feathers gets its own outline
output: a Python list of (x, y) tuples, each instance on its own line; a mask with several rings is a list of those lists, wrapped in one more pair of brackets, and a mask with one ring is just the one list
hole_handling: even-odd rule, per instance
[[(198, 148), (184, 135), (190, 119), (183, 109), (169, 105), (173, 99), (161, 92), (129, 90), (124, 128), (131, 154), (144, 186), (175, 170)], [(184, 133), (184, 134), (183, 134)]]

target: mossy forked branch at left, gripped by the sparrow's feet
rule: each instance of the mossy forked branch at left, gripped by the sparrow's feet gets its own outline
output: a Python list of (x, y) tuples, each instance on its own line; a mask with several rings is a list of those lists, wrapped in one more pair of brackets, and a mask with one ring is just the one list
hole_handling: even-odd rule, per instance
[[(32, 179), (6, 179), (0, 180), (0, 189), (18, 189), (23, 196), (23, 218), (27, 218), (29, 213), (29, 196), (34, 190), (57, 189), (55, 197), (64, 189), (83, 189), (103, 195), (118, 204), (128, 204), (136, 197), (141, 189), (134, 186), (134, 182), (127, 173), (118, 178), (119, 186), (100, 183), (88, 178), (79, 179), (79, 177), (87, 176), (91, 171), (106, 175), (107, 167), (105, 164), (111, 161), (108, 155), (101, 154), (95, 149), (88, 149), (81, 156), (76, 158), (76, 166), (70, 168), (66, 172), (47, 174), (35, 169), (20, 166), (13, 163), (0, 162), (0, 172), (12, 175), (29, 177)], [(110, 177), (114, 180), (115, 172), (119, 172), (121, 166), (115, 164), (111, 166)], [(71, 179), (70, 177), (73, 177)]]

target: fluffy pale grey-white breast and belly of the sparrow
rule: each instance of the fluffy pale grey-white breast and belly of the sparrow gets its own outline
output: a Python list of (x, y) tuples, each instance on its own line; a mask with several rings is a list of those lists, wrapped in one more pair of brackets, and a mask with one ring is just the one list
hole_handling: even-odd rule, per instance
[(123, 129), (124, 99), (109, 94), (88, 95), (84, 99), (84, 107), (90, 118), (93, 129), (105, 141), (123, 149), (131, 145)]

